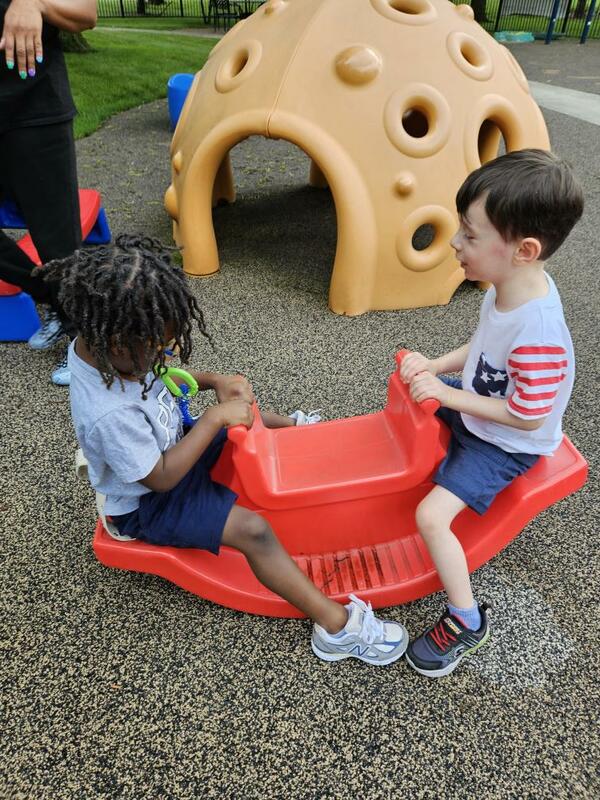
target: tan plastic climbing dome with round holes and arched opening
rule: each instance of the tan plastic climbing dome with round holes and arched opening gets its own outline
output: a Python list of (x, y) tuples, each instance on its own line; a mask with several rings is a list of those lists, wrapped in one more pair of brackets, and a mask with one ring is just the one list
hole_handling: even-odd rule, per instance
[(450, 238), (466, 175), (548, 148), (511, 53), (447, 0), (268, 0), (213, 48), (171, 145), (165, 207), (184, 269), (219, 269), (211, 206), (233, 202), (229, 151), (259, 134), (312, 160), (331, 188), (338, 314), (447, 303), (464, 273)]

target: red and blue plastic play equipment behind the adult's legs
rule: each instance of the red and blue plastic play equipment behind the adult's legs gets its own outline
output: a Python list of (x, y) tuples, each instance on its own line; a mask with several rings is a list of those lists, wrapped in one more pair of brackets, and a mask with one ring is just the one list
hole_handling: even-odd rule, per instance
[[(85, 244), (110, 242), (110, 228), (100, 194), (94, 189), (79, 190), (81, 234)], [(25, 222), (11, 201), (0, 206), (0, 228), (24, 228)], [(30, 234), (17, 242), (33, 265), (40, 265), (38, 252)], [(40, 327), (35, 303), (18, 286), (0, 280), (0, 342), (25, 342)]]

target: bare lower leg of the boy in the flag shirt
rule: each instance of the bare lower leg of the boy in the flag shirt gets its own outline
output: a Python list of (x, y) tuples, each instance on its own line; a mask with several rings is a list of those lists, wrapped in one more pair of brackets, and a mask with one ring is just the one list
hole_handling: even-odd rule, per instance
[(417, 527), (433, 559), (448, 601), (471, 608), (473, 593), (462, 545), (450, 530), (466, 503), (443, 486), (435, 486), (417, 508)]

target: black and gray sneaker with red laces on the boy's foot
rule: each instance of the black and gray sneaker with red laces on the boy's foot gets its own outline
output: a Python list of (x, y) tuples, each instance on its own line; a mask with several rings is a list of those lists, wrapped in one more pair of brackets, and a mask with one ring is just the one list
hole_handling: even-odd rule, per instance
[(408, 645), (406, 660), (421, 675), (441, 678), (458, 667), (465, 656), (470, 656), (490, 635), (487, 611), (488, 603), (479, 606), (481, 625), (474, 631), (465, 627), (458, 617), (446, 609), (433, 628)]

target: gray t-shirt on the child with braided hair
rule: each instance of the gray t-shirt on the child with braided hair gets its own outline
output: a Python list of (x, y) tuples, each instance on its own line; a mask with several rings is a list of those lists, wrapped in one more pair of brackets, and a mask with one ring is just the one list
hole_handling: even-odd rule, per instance
[(106, 495), (106, 514), (135, 511), (151, 491), (139, 483), (152, 472), (161, 453), (183, 435), (181, 413), (171, 393), (156, 380), (142, 400), (142, 387), (116, 380), (106, 388), (97, 369), (69, 347), (71, 417), (88, 460), (90, 483)]

